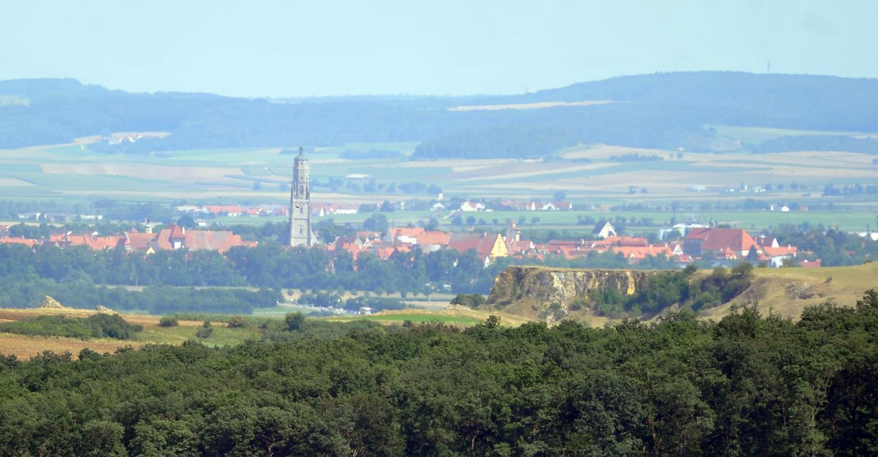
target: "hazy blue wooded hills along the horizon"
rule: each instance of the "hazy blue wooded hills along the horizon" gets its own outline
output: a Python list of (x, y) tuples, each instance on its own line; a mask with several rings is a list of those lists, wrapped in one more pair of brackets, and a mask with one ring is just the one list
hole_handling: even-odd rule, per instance
[[(834, 76), (662, 73), (508, 96), (287, 100), (130, 93), (73, 79), (20, 79), (0, 82), (0, 96), (29, 102), (0, 105), (3, 149), (119, 131), (166, 131), (172, 134), (165, 139), (104, 151), (423, 141), (415, 155), (424, 158), (539, 157), (595, 142), (711, 150), (716, 133), (702, 126), (714, 124), (878, 132), (878, 79)], [(450, 111), (460, 105), (587, 100), (611, 103)]]

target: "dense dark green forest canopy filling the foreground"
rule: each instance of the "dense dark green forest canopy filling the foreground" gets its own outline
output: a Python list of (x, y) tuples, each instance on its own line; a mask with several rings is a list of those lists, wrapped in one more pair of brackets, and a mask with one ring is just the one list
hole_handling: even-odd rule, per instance
[(309, 322), (231, 348), (4, 357), (0, 454), (878, 453), (875, 291), (797, 323)]

